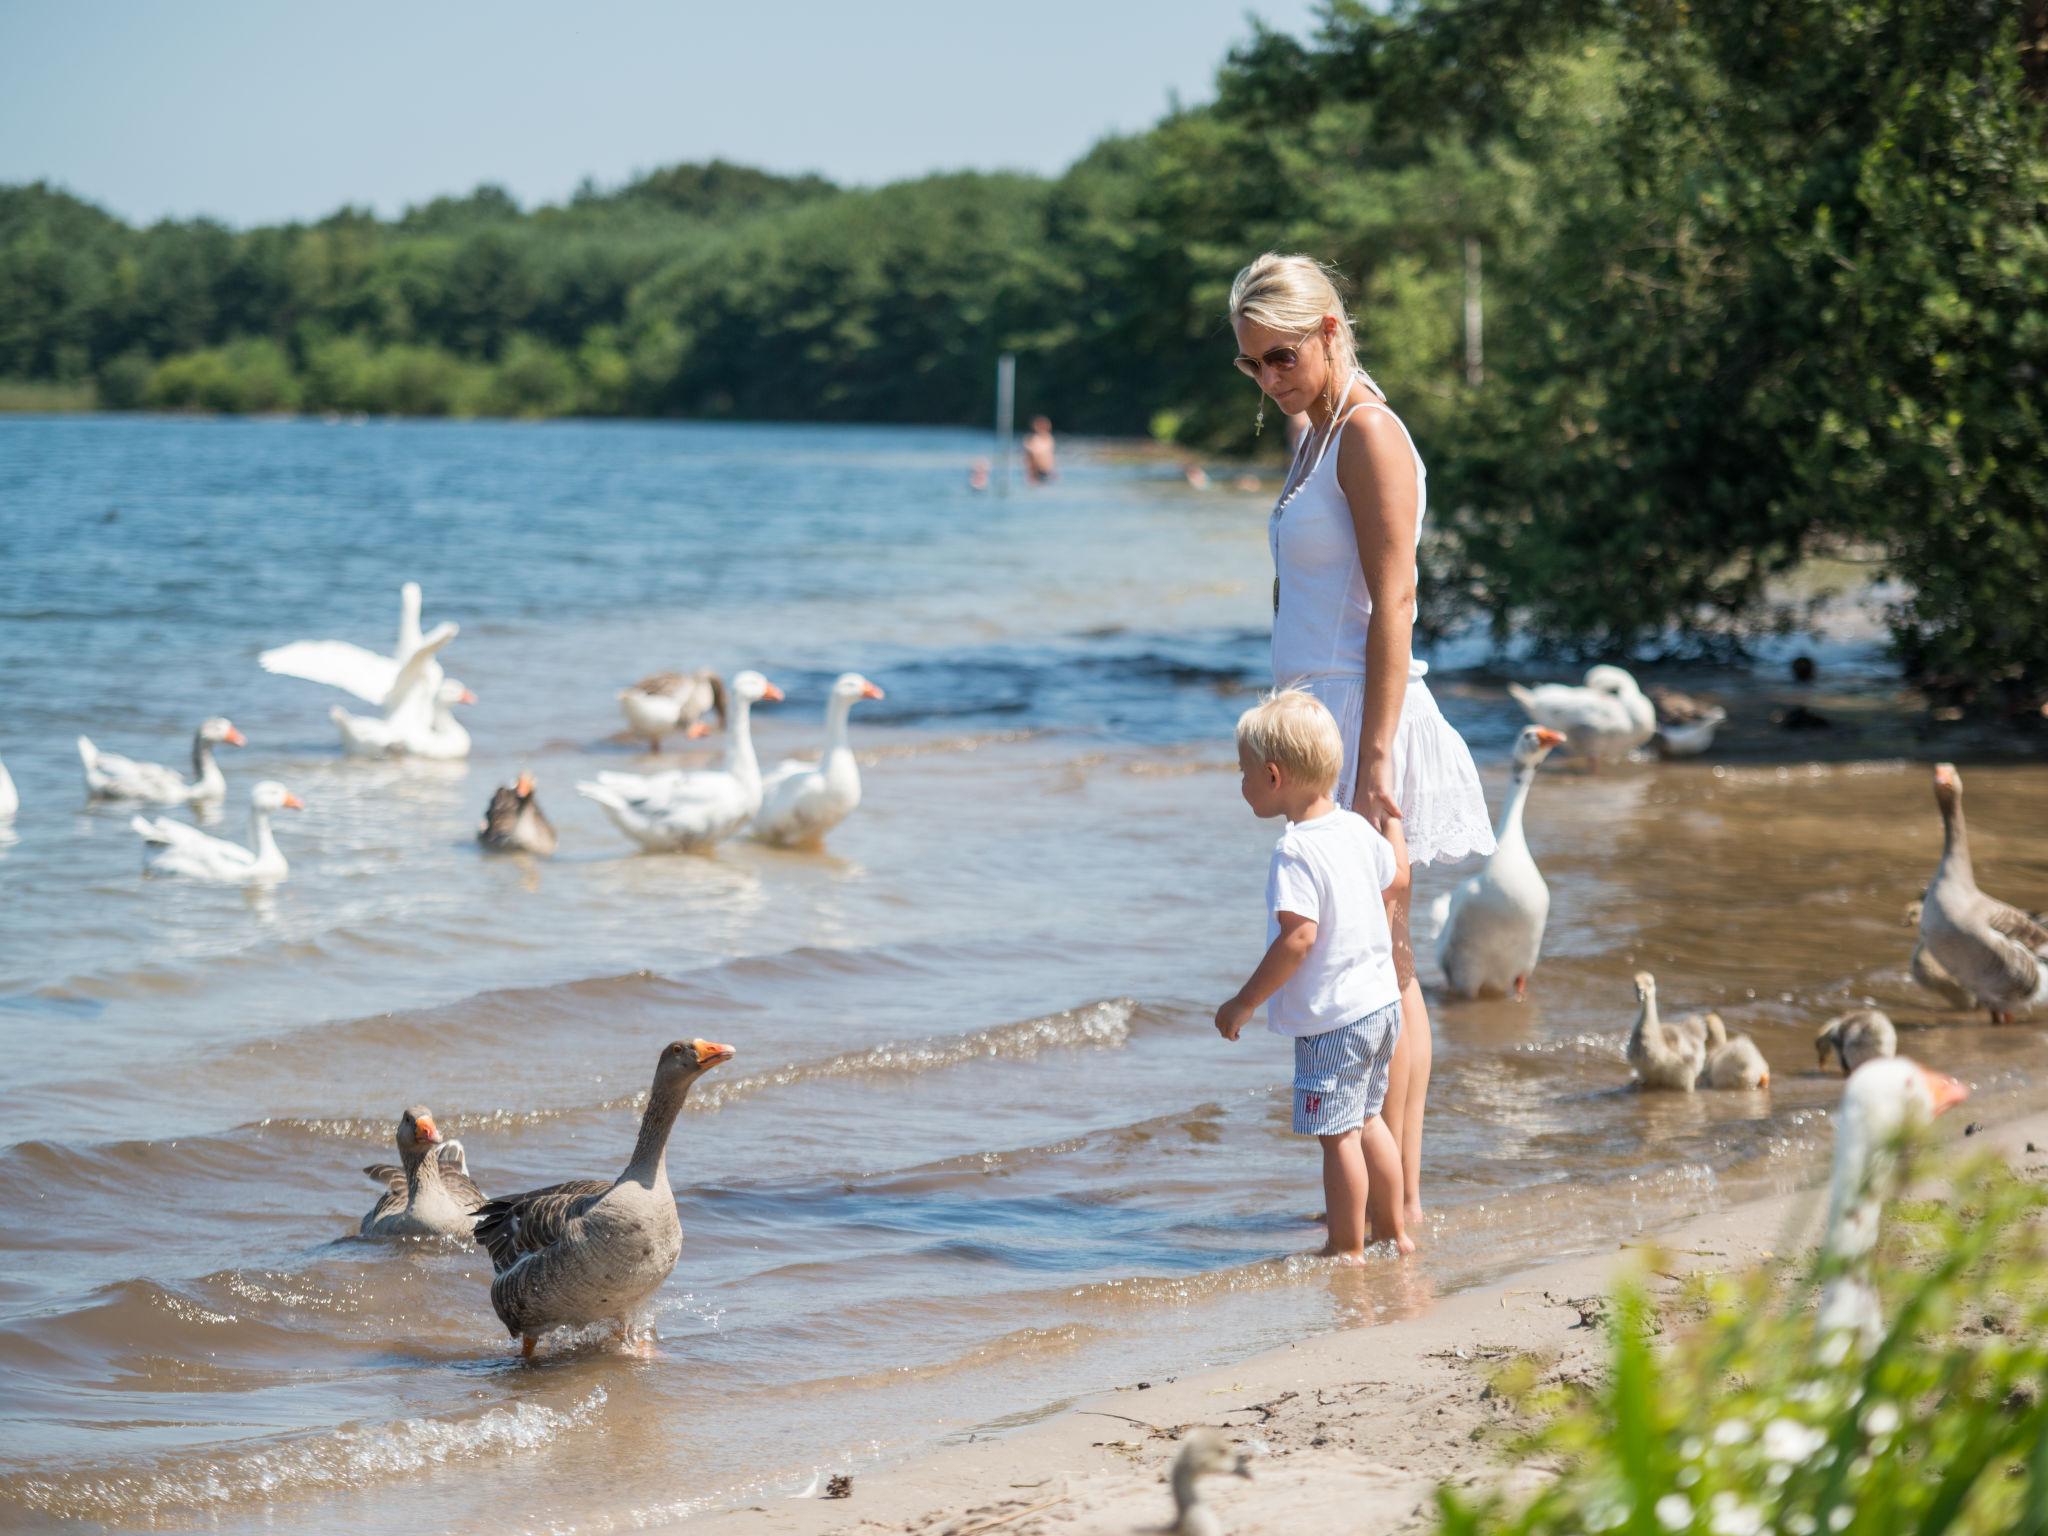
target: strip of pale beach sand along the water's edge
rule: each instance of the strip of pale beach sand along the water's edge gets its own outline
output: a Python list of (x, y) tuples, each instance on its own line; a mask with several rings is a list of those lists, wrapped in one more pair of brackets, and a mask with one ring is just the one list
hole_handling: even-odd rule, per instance
[[(1942, 1124), (1960, 1143), (1968, 1106)], [(2048, 1114), (1976, 1128), (2015, 1167), (2048, 1178)], [(1686, 1276), (1745, 1270), (1806, 1251), (1825, 1190), (1755, 1200), (1681, 1223), (1655, 1239), (1534, 1266), (1464, 1290), (1415, 1317), (1303, 1339), (1235, 1366), (1128, 1386), (1053, 1417), (930, 1456), (854, 1475), (842, 1499), (774, 1499), (690, 1522), (717, 1536), (809, 1536), (903, 1530), (977, 1532), (1163, 1530), (1174, 1518), (1167, 1468), (1194, 1425), (1217, 1425), (1253, 1448), (1253, 1475), (1204, 1479), (1206, 1501), (1233, 1536), (1298, 1536), (1341, 1518), (1346, 1530), (1407, 1532), (1436, 1524), (1436, 1489), (1452, 1483), (1534, 1485), (1516, 1466), (1520, 1427), (1491, 1391), (1505, 1362), (1534, 1356), (1546, 1380), (1595, 1380), (1606, 1368), (1597, 1300), (1655, 1251), (1657, 1288)]]

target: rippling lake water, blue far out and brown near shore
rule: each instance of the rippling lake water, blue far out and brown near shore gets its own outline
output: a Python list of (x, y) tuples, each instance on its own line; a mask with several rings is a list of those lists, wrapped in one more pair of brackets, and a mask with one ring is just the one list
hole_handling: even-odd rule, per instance
[[(2038, 1026), (1939, 1014), (1901, 909), (1923, 766), (1546, 774), (1526, 1006), (1434, 1001), (1425, 1253), (1337, 1272), (1288, 1047), (1214, 1038), (1272, 825), (1231, 721), (1264, 682), (1255, 494), (1069, 449), (967, 489), (942, 430), (0, 420), (0, 1524), (621, 1530), (805, 1489), (1075, 1395), (1370, 1325), (1530, 1260), (1810, 1180), (1876, 997), (1909, 1049), (2044, 1102)], [(467, 764), (342, 760), (338, 694), (256, 653), (461, 623)], [(1427, 600), (1427, 598), (1425, 598)], [(827, 852), (649, 856), (571, 786), (666, 766), (614, 692), (754, 666), (813, 748), (860, 670), (866, 803)], [(1438, 674), (1501, 793), (1520, 719)], [(74, 737), (184, 762), (227, 715), (221, 831), (303, 797), (266, 895), (145, 881)], [(549, 862), (473, 844), (530, 768)], [(1987, 887), (2048, 899), (2048, 774), (1970, 768)], [(4, 836), (4, 834), (0, 834)], [(1421, 895), (1448, 883), (1427, 872)], [(1427, 948), (1427, 946), (1425, 946)], [(1640, 1096), (1628, 975), (1716, 1006), (1767, 1096)], [(1434, 983), (1425, 961), (1425, 983)], [(352, 1239), (424, 1100), (489, 1192), (610, 1176), (664, 1042), (729, 1040), (670, 1169), (651, 1360), (514, 1358), (477, 1251)]]

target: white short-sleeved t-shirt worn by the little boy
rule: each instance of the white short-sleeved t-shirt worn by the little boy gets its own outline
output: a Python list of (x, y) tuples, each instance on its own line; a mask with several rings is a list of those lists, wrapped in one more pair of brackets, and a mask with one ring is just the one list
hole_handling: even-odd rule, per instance
[(1290, 821), (1266, 874), (1266, 942), (1282, 911), (1315, 924), (1300, 969), (1266, 1004), (1274, 1034), (1323, 1034), (1401, 999), (1395, 940), (1380, 895), (1395, 883), (1395, 850), (1356, 811)]

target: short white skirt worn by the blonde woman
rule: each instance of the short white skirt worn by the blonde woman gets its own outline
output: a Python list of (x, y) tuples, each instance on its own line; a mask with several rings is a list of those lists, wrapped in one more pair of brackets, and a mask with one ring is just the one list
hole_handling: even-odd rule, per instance
[[(1401, 725), (1395, 727), (1395, 801), (1401, 805), (1401, 831), (1407, 836), (1411, 864), (1436, 864), (1493, 852), (1493, 821), (1487, 815), (1487, 795), (1479, 788), (1479, 770), (1464, 737), (1436, 707), (1427, 664), (1409, 664), (1407, 696), (1401, 700)], [(1337, 717), (1343, 737), (1343, 772), (1337, 776), (1337, 805), (1350, 809), (1358, 782), (1358, 731), (1366, 719), (1366, 680), (1343, 674), (1296, 678)]]

